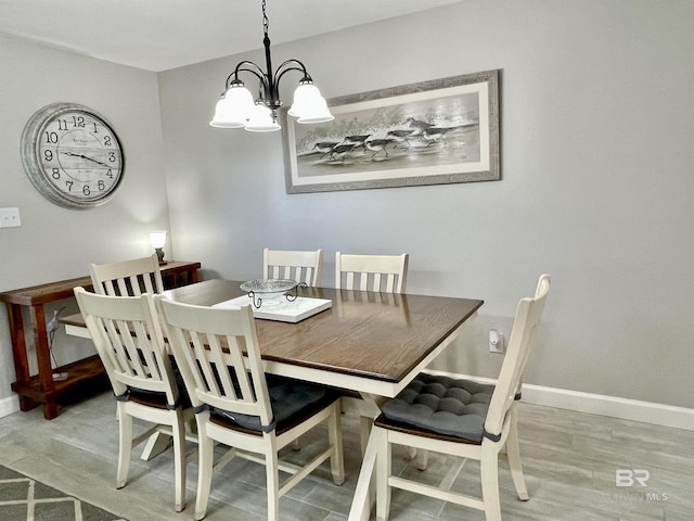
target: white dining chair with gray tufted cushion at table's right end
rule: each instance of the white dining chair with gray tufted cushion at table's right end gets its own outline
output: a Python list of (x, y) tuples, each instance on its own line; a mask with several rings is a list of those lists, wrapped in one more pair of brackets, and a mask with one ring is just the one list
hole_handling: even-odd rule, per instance
[[(518, 303), (496, 385), (424, 372), (383, 406), (382, 415), (374, 421), (364, 458), (373, 461), (375, 455), (378, 520), (388, 519), (393, 487), (483, 510), (487, 521), (501, 520), (498, 456), (504, 447), (518, 498), (528, 500), (518, 448), (517, 403), (549, 289), (550, 277), (542, 275), (535, 296)], [(393, 474), (393, 445), (444, 453), (459, 459), (435, 487), (404, 479), (402, 473)], [(479, 461), (481, 499), (450, 491), (466, 459)], [(370, 478), (371, 469), (364, 465), (350, 520), (357, 519), (365, 501), (365, 482)]]

